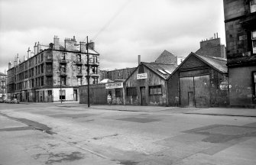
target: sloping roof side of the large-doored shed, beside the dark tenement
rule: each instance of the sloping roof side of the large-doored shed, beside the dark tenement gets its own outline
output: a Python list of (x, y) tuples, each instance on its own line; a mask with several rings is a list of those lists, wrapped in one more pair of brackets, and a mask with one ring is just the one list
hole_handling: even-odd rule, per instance
[(212, 66), (215, 70), (218, 70), (221, 73), (228, 73), (228, 67), (226, 66), (227, 60), (219, 57), (207, 57), (193, 53), (196, 57), (203, 60), (209, 66)]

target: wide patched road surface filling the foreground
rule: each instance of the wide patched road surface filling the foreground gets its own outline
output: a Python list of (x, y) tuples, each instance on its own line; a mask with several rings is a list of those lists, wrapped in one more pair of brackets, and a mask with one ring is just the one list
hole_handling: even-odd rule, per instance
[(256, 164), (256, 109), (0, 104), (0, 164)]

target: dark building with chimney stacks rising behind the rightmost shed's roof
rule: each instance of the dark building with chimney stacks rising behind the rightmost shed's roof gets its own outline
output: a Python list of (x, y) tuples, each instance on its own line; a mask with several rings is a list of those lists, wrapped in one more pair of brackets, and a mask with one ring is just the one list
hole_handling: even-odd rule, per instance
[(225, 45), (221, 44), (218, 33), (214, 34), (214, 37), (209, 40), (202, 40), (200, 42), (200, 48), (196, 51), (196, 54), (208, 57), (226, 58)]

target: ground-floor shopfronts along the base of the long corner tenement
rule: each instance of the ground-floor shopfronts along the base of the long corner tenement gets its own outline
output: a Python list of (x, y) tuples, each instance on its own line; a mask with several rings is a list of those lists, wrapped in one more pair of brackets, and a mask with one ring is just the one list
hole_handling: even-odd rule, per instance
[(47, 88), (29, 89), (8, 93), (8, 99), (18, 99), (20, 102), (60, 102), (78, 101), (78, 88)]

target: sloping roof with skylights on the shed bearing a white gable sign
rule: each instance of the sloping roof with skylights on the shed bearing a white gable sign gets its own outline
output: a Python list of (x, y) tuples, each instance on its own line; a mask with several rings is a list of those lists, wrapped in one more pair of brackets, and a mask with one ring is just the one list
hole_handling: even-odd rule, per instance
[(164, 64), (164, 63), (144, 63), (141, 62), (142, 65), (147, 66), (148, 69), (152, 70), (158, 76), (163, 79), (167, 79), (171, 73), (177, 68), (177, 66), (172, 64)]

